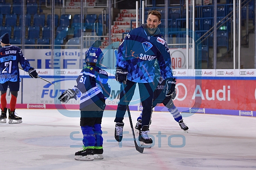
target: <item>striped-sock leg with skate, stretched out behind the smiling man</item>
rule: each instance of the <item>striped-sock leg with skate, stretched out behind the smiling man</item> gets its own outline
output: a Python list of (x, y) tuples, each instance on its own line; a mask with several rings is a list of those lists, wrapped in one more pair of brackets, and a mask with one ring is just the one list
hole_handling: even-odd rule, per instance
[(170, 99), (169, 101), (163, 101), (163, 105), (168, 108), (168, 111), (173, 115), (174, 120), (179, 123), (180, 128), (184, 130), (184, 132), (188, 133), (189, 128), (183, 122), (182, 115), (174, 105), (173, 100)]

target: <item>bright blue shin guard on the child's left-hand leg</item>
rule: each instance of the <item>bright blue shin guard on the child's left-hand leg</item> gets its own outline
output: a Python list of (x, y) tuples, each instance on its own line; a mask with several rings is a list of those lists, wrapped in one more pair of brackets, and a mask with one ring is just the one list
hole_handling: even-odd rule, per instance
[(83, 133), (83, 145), (87, 146), (94, 146), (95, 144), (95, 136), (93, 132), (93, 127), (91, 126), (81, 126), (81, 130)]

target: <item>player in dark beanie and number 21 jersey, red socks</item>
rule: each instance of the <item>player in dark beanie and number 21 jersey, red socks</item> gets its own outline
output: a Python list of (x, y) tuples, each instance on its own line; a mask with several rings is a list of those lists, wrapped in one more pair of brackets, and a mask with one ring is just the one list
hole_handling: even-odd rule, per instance
[(22, 54), (17, 46), (10, 45), (9, 33), (5, 33), (0, 37), (2, 48), (0, 49), (0, 91), (1, 91), (1, 116), (0, 122), (6, 123), (7, 101), (6, 91), (9, 87), (11, 92), (11, 101), (9, 111), (9, 123), (21, 123), (22, 118), (15, 113), (15, 106), (20, 89), (20, 66), (27, 71), (32, 78), (37, 78), (36, 70), (30, 66), (28, 60)]

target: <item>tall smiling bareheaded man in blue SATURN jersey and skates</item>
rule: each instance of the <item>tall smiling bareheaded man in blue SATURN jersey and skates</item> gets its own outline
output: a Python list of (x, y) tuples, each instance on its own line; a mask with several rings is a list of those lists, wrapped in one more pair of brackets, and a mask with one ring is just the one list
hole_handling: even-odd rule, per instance
[[(171, 57), (165, 39), (160, 34), (158, 25), (161, 23), (160, 12), (148, 11), (147, 23), (135, 28), (126, 35), (118, 48), (116, 63), (116, 80), (124, 84), (126, 101), (129, 103), (134, 95), (136, 84), (143, 106), (139, 141), (141, 146), (151, 145), (152, 139), (148, 137), (149, 122), (152, 114), (152, 101), (154, 96), (154, 62), (158, 59), (163, 79), (166, 80), (166, 94), (175, 89), (175, 78), (171, 71)], [(120, 102), (115, 117), (115, 139), (122, 141), (124, 127), (124, 114), (126, 102), (124, 94), (120, 93)]]

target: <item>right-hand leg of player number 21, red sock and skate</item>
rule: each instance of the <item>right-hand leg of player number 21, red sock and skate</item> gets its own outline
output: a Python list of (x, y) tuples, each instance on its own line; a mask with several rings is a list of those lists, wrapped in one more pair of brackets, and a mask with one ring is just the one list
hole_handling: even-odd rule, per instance
[(9, 111), (9, 123), (10, 124), (15, 124), (15, 123), (21, 123), (22, 118), (17, 116), (17, 113), (15, 113), (15, 107), (16, 107), (16, 102), (17, 102), (17, 96), (18, 96), (18, 91), (20, 89), (20, 82), (8, 82), (9, 89), (11, 91), (11, 101), (10, 101), (10, 109)]

